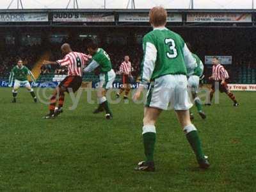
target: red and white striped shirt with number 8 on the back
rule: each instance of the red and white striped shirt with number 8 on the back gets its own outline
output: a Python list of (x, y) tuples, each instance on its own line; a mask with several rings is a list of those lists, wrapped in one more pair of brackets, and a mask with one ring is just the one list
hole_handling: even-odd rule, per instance
[(63, 60), (58, 60), (62, 66), (68, 67), (68, 76), (83, 76), (83, 68), (85, 64), (90, 60), (90, 56), (83, 54), (82, 52), (70, 52), (66, 54)]

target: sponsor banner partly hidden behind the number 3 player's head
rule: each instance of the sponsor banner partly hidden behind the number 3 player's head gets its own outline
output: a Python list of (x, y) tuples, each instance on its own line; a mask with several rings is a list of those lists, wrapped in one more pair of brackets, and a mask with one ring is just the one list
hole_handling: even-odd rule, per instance
[[(149, 22), (148, 14), (119, 15), (119, 22)], [(182, 15), (170, 13), (167, 22), (182, 22)]]

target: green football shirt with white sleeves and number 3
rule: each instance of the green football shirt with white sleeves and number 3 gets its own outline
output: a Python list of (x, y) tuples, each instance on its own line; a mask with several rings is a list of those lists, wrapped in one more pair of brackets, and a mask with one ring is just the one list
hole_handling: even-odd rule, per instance
[(143, 38), (144, 57), (141, 63), (142, 81), (152, 81), (167, 74), (193, 72), (195, 58), (180, 35), (167, 28), (155, 28)]

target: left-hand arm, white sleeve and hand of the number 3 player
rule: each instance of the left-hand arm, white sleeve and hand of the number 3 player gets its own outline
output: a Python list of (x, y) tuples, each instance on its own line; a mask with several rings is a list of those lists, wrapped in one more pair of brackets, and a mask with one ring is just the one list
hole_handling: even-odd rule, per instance
[(134, 94), (134, 100), (139, 99), (143, 89), (147, 88), (147, 84), (150, 81), (155, 68), (157, 49), (152, 38), (147, 36), (143, 38), (143, 51), (144, 58), (143, 62), (141, 63), (141, 81), (137, 92)]

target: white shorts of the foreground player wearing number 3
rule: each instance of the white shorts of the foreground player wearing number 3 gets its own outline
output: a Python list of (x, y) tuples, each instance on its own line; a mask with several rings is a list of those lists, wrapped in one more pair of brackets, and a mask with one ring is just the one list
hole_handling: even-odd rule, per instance
[(163, 110), (188, 110), (193, 106), (188, 95), (188, 79), (184, 75), (158, 77), (150, 84), (145, 106)]

